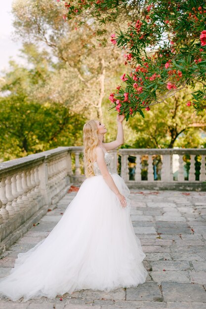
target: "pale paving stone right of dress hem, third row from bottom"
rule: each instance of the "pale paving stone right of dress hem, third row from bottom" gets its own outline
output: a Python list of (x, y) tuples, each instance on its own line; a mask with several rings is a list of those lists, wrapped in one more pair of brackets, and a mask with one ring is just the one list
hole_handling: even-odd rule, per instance
[(151, 271), (151, 277), (155, 282), (172, 281), (172, 282), (190, 282), (188, 271), (176, 271), (176, 270), (160, 270)]

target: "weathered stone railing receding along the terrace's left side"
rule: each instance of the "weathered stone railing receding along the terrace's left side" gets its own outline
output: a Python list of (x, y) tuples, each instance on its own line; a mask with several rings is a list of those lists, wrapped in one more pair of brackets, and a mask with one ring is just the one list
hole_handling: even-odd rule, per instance
[(0, 163), (0, 252), (65, 195), (70, 173), (68, 147)]

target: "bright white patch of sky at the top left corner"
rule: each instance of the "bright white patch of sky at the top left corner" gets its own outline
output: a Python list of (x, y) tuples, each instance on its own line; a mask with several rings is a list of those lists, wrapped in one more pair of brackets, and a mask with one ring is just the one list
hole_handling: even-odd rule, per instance
[(22, 46), (21, 41), (12, 40), (12, 37), (14, 37), (13, 16), (11, 14), (12, 1), (2, 1), (0, 6), (0, 72), (8, 68), (9, 57), (22, 63), (22, 60), (18, 58), (19, 49)]

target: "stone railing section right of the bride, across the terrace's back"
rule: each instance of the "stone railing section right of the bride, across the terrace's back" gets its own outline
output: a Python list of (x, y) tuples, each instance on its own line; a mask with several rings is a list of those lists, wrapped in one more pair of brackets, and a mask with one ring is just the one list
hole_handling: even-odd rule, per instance
[(130, 188), (206, 190), (206, 149), (120, 149)]

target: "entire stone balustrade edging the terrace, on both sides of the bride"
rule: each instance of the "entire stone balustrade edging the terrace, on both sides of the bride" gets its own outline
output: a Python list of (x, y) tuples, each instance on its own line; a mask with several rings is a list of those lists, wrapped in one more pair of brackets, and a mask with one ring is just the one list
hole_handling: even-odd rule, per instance
[[(206, 149), (119, 149), (111, 170), (130, 188), (206, 190)], [(0, 252), (55, 207), (83, 175), (82, 147), (58, 147), (0, 163)]]

